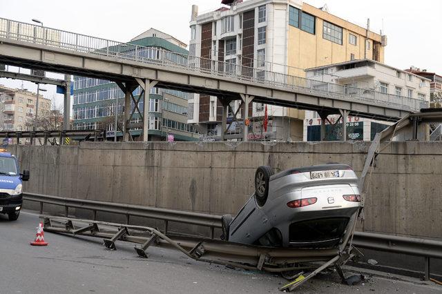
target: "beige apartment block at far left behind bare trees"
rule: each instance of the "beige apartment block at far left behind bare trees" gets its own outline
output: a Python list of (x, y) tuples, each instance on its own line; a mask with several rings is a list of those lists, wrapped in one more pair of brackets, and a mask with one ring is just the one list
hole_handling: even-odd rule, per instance
[[(0, 129), (26, 131), (32, 130), (35, 121), (37, 94), (28, 90), (0, 86)], [(37, 117), (50, 114), (52, 101), (39, 95)], [(37, 128), (39, 125), (37, 124)]]

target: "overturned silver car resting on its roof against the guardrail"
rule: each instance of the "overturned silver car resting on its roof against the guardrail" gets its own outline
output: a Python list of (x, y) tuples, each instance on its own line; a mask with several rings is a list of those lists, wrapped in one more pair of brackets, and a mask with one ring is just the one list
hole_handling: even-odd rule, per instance
[(330, 248), (361, 208), (358, 177), (346, 164), (255, 174), (255, 193), (236, 217), (222, 217), (222, 239), (262, 246)]

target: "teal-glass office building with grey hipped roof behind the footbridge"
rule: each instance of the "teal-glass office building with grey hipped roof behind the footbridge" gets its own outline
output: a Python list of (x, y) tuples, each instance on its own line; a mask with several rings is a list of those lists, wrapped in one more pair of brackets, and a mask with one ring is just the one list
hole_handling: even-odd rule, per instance
[[(133, 54), (143, 55), (149, 59), (161, 58), (157, 49), (189, 55), (186, 43), (154, 28), (146, 30), (128, 43), (145, 47), (146, 49), (141, 50), (142, 52), (133, 52)], [(138, 99), (140, 92), (140, 87), (135, 89), (133, 92), (135, 99)], [(74, 77), (73, 95), (73, 129), (107, 130), (108, 139), (115, 139), (115, 134), (119, 140), (122, 139), (124, 92), (119, 89), (117, 84), (102, 79)], [(170, 135), (173, 135), (174, 140), (177, 141), (198, 140), (200, 137), (198, 132), (193, 126), (187, 124), (188, 100), (191, 94), (152, 88), (149, 96), (150, 111), (147, 116), (149, 140), (165, 141)], [(131, 109), (133, 110), (134, 107), (132, 101)], [(144, 115), (143, 97), (138, 107)], [(115, 110), (117, 111), (115, 112)], [(115, 115), (117, 115), (118, 121), (116, 132)], [(142, 139), (142, 119), (137, 112), (130, 121), (129, 133), (135, 140)]]

